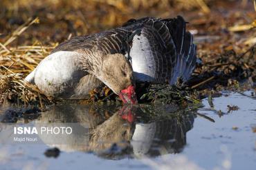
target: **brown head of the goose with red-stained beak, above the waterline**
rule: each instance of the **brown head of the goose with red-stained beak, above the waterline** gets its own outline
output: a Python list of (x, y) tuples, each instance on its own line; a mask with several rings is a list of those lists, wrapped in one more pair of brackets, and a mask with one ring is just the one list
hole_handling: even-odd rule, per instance
[(137, 103), (132, 67), (122, 54), (108, 54), (105, 56), (97, 77), (124, 103)]

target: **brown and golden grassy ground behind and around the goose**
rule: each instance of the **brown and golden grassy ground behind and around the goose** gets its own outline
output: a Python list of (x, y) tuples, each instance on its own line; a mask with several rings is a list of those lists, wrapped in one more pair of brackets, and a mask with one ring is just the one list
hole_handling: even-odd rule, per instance
[(256, 7), (252, 0), (2, 0), (1, 4), (0, 103), (15, 97), (24, 103), (48, 100), (23, 78), (58, 43), (147, 16), (181, 15), (189, 22), (202, 60), (188, 83), (190, 89), (200, 89), (205, 95), (205, 89), (209, 94), (209, 89), (256, 86)]

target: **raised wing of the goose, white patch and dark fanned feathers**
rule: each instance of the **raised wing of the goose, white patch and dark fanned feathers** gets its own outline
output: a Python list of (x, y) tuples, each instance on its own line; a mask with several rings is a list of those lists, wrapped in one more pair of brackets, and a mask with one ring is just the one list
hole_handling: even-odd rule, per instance
[[(136, 78), (140, 81), (168, 81), (178, 77), (188, 81), (196, 65), (196, 45), (185, 30), (185, 21), (176, 19), (131, 19), (123, 26), (142, 24), (133, 39), (130, 56)], [(138, 29), (138, 28), (137, 28)]]

